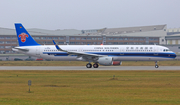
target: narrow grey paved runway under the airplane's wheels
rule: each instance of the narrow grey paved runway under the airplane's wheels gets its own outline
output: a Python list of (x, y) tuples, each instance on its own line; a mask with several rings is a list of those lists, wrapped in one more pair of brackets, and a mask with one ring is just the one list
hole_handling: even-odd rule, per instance
[(0, 70), (180, 70), (180, 66), (100, 66), (86, 68), (85, 66), (0, 66)]

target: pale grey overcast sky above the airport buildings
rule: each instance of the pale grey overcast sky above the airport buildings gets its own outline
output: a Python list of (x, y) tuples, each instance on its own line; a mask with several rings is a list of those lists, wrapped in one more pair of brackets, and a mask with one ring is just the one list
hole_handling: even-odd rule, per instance
[(148, 25), (180, 28), (180, 0), (0, 0), (0, 27), (101, 29)]

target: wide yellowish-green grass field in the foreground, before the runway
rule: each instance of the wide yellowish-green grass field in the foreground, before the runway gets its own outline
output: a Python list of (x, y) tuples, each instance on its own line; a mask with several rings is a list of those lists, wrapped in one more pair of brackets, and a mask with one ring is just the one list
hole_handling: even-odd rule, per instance
[(179, 94), (180, 71), (0, 71), (0, 105), (179, 105)]

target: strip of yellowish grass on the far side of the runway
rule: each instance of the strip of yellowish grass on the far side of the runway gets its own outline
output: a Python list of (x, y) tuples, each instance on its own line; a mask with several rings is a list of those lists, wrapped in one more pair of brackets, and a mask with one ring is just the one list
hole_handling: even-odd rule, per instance
[[(82, 61), (0, 61), (0, 66), (85, 66)], [(154, 66), (154, 61), (123, 61), (122, 66)], [(180, 61), (160, 61), (159, 66), (180, 66)]]

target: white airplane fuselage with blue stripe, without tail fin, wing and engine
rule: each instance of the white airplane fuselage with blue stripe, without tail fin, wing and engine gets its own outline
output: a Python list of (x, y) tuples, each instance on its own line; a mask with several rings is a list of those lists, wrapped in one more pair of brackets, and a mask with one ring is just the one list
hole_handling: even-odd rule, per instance
[[(176, 57), (176, 54), (169, 51), (167, 47), (158, 45), (61, 45), (60, 47), (70, 52), (111, 56), (113, 61), (161, 61), (172, 60)], [(28, 49), (28, 51), (15, 48), (13, 48), (13, 51), (44, 59), (61, 61), (82, 60), (76, 55), (69, 55), (66, 52), (58, 51), (54, 45), (22, 46), (16, 48)]]

